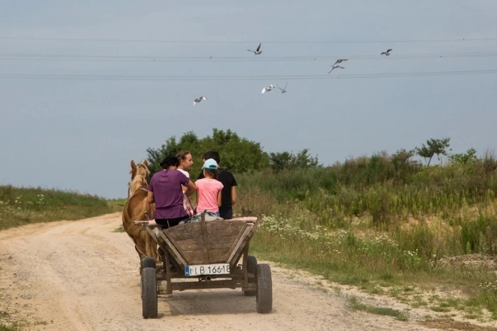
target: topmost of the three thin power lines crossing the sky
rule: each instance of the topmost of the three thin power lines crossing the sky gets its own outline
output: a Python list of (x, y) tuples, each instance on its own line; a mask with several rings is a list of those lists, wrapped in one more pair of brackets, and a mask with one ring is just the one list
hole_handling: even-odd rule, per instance
[(44, 41), (77, 41), (104, 43), (193, 43), (193, 44), (240, 44), (240, 43), (273, 43), (273, 44), (332, 44), (332, 43), (455, 43), (470, 41), (497, 41), (497, 38), (452, 38), (452, 39), (397, 39), (397, 40), (153, 40), (153, 39), (119, 39), (119, 38), (58, 38), (58, 37), (11, 37), (0, 36), (4, 40), (44, 40)]

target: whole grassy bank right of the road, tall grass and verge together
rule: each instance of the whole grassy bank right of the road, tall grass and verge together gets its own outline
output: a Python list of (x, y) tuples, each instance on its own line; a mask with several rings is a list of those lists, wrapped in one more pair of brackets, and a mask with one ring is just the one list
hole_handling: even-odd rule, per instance
[(446, 264), (497, 251), (497, 161), (425, 167), (380, 153), (327, 168), (237, 175), (241, 207), (263, 216), (255, 254), (358, 286), (454, 286), (497, 317), (497, 276)]

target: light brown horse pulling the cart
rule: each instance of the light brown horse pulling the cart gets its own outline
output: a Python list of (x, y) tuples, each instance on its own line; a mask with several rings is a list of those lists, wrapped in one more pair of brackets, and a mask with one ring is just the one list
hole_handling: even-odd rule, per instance
[(130, 173), (129, 197), (123, 210), (124, 231), (133, 239), (140, 261), (145, 256), (151, 256), (157, 261), (157, 244), (146, 229), (133, 222), (145, 221), (148, 219), (148, 215), (150, 217), (155, 215), (155, 205), (146, 202), (148, 195), (147, 175), (150, 173), (147, 161), (144, 160), (142, 163), (135, 164), (131, 160)]

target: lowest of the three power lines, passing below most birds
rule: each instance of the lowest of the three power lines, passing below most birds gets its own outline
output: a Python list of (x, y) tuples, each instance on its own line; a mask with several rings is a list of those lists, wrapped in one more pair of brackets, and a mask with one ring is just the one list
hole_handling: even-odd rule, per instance
[(55, 74), (0, 74), (0, 79), (33, 80), (136, 80), (136, 81), (248, 81), (248, 80), (346, 80), (361, 78), (427, 77), (449, 75), (495, 74), (497, 70), (459, 70), (441, 72), (386, 72), (357, 75), (260, 75), (260, 76), (153, 76), (153, 75), (55, 75)]

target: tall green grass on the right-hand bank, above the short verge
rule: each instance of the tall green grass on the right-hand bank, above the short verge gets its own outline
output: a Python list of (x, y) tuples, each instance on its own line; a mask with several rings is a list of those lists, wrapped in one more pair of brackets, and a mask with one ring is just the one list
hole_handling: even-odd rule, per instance
[[(344, 218), (364, 215), (376, 225), (408, 216), (448, 218), (463, 207), (496, 199), (497, 161), (493, 158), (426, 168), (398, 154), (356, 158), (328, 168), (238, 175), (237, 181), (241, 195), (268, 197), (281, 211), (299, 205), (325, 226), (340, 226)], [(261, 214), (275, 209), (259, 205), (259, 200), (243, 201)]]

